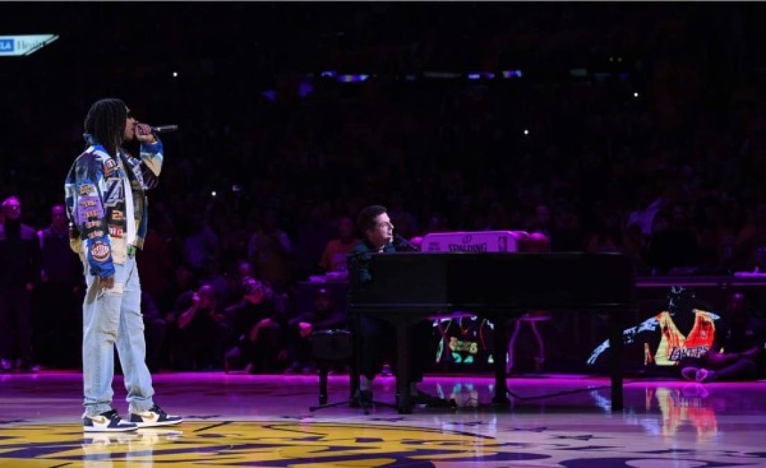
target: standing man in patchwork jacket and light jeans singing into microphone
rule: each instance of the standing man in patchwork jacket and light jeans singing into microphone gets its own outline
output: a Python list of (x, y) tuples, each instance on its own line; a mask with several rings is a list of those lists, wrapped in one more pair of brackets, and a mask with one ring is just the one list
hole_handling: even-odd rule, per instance
[[(119, 99), (103, 99), (85, 117), (86, 149), (64, 182), (70, 245), (87, 283), (83, 301), (83, 430), (113, 432), (178, 424), (154, 401), (146, 367), (136, 250), (146, 236), (146, 190), (156, 185), (164, 150), (157, 133)], [(140, 142), (139, 157), (123, 143)], [(128, 421), (112, 407), (114, 349), (128, 391)], [(74, 350), (73, 350), (74, 352)]]

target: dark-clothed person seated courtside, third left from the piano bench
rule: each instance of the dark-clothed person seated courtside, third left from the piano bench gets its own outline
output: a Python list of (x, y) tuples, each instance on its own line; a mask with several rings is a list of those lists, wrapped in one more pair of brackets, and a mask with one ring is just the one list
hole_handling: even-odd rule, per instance
[(184, 370), (217, 368), (228, 332), (213, 287), (204, 284), (194, 293), (183, 294), (175, 310), (182, 311), (174, 314), (178, 316), (172, 350), (175, 365)]

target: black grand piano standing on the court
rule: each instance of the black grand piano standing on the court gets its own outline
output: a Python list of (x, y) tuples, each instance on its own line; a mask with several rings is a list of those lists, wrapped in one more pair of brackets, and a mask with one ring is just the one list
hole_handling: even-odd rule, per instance
[[(349, 283), (349, 313), (369, 314), (397, 330), (398, 411), (411, 413), (408, 329), (420, 320), (470, 313), (491, 320), (494, 342), (507, 343), (506, 321), (530, 309), (610, 314), (611, 404), (623, 409), (624, 318), (635, 307), (633, 266), (623, 254), (472, 253), (373, 254), (372, 282)], [(352, 275), (353, 276), (353, 275)], [(499, 349), (504, 349), (499, 345)], [(495, 352), (494, 404), (509, 404), (506, 353)]]

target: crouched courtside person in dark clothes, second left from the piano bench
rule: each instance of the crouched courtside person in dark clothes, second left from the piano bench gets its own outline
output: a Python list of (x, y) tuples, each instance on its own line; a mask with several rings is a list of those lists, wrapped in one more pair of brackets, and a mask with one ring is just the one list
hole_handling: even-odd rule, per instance
[(226, 309), (233, 344), (224, 357), (224, 370), (274, 371), (287, 360), (283, 300), (252, 277), (242, 280), (241, 294), (241, 300)]

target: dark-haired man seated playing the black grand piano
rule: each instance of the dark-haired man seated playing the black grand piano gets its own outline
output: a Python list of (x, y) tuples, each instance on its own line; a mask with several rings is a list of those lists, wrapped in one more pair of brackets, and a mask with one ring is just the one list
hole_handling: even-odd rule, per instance
[[(396, 251), (412, 250), (411, 244), (394, 243), (394, 224), (388, 217), (386, 208), (372, 205), (363, 208), (357, 217), (358, 230), (362, 232), (360, 242), (349, 253), (349, 281), (363, 285), (372, 281), (369, 269), (371, 254), (389, 254)], [(372, 382), (381, 371), (384, 361), (395, 365), (396, 358), (394, 326), (384, 320), (362, 314), (358, 320), (358, 332), (361, 337), (361, 362), (359, 369), (359, 388), (354, 394), (353, 403), (358, 406), (372, 405)], [(422, 320), (412, 327), (410, 341), (412, 362), (410, 364), (410, 394), (414, 404), (426, 404), (432, 407), (450, 407), (453, 401), (445, 401), (418, 390), (417, 382), (423, 380), (423, 371), (430, 351), (433, 327), (429, 320)]]

